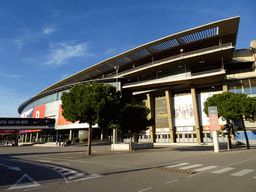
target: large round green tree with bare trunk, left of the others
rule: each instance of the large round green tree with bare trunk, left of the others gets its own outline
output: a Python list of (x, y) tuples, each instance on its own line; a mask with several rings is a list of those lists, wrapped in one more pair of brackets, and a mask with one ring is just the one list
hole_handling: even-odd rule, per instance
[(106, 124), (109, 114), (108, 107), (113, 102), (116, 89), (110, 84), (92, 82), (72, 87), (70, 92), (61, 96), (63, 117), (71, 122), (88, 123), (88, 152), (91, 155), (91, 129), (92, 126)]

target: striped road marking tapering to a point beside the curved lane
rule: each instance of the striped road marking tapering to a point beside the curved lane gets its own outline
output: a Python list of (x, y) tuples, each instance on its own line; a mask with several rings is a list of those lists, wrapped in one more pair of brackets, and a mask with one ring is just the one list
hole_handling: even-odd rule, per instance
[(68, 169), (63, 167), (51, 167), (55, 171), (59, 172), (66, 180), (67, 183), (74, 182), (74, 181), (80, 181), (84, 179), (92, 179), (96, 177), (101, 177), (99, 174), (90, 174), (86, 172), (82, 172), (79, 170), (74, 169)]

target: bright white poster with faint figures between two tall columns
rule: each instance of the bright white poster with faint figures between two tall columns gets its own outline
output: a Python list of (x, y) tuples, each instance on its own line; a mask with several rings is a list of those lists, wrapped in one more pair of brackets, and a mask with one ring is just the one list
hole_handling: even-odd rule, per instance
[(174, 102), (174, 126), (194, 126), (192, 95), (175, 96)]

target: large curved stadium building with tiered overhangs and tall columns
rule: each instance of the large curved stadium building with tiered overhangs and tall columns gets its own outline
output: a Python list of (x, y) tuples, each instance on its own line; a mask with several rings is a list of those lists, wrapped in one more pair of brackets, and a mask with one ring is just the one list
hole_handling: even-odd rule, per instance
[[(139, 141), (212, 142), (203, 112), (206, 99), (225, 91), (256, 94), (256, 41), (248, 49), (235, 50), (239, 20), (232, 17), (149, 42), (47, 87), (18, 108), (20, 117), (55, 119), (52, 131), (30, 133), (30, 140), (86, 137), (88, 124), (66, 121), (60, 99), (74, 85), (97, 81), (116, 86), (132, 103), (151, 110), (155, 125), (141, 132)], [(256, 127), (245, 123), (249, 129)], [(219, 119), (219, 124), (225, 122)], [(103, 136), (94, 126), (93, 134), (100, 133)], [(22, 133), (23, 141), (27, 134)]]

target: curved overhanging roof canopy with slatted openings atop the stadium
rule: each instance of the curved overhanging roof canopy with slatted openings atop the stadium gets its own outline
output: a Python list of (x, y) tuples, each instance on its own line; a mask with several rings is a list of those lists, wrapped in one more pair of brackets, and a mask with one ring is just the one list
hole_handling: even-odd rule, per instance
[(145, 57), (154, 56), (158, 53), (171, 50), (177, 47), (185, 47), (186, 45), (205, 41), (213, 38), (227, 38), (228, 42), (236, 45), (236, 38), (238, 32), (240, 16), (212, 22), (206, 25), (195, 27), (193, 29), (185, 30), (147, 44), (141, 45), (109, 59), (106, 59), (100, 63), (97, 63), (91, 67), (88, 67), (78, 73), (71, 75), (38, 93), (33, 98), (24, 102), (19, 107), (19, 113), (31, 102), (55, 92), (61, 87), (67, 87), (71, 84), (76, 84), (82, 81), (88, 81), (91, 79), (99, 78), (102, 75), (115, 72), (115, 66), (125, 66), (141, 60)]

